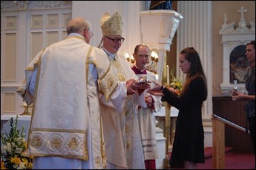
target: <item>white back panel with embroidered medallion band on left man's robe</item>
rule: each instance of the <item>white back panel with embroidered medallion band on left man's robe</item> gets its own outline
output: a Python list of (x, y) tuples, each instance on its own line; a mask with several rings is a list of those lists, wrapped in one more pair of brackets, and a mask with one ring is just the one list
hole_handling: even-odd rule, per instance
[[(82, 39), (73, 40), (54, 43), (39, 57), (29, 148), (24, 154), (88, 160), (86, 55), (81, 55), (87, 51)], [(71, 46), (73, 55), (65, 48)]]

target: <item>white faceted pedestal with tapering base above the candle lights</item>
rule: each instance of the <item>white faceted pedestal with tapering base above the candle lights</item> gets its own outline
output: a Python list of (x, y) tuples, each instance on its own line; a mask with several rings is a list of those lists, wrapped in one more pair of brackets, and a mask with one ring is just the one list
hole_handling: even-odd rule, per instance
[[(158, 81), (162, 81), (164, 56), (170, 51), (172, 39), (183, 16), (173, 10), (149, 10), (140, 13), (142, 43), (158, 53)], [(152, 24), (152, 20), (155, 21)]]

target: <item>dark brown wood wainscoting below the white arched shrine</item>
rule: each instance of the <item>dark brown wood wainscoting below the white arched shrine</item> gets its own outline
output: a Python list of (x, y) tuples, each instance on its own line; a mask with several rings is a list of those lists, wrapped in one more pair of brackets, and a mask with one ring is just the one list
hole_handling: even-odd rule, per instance
[[(231, 96), (216, 95), (213, 97), (213, 114), (246, 128), (246, 102), (234, 102)], [(254, 153), (251, 137), (231, 126), (225, 127), (225, 146), (231, 146), (235, 152)]]

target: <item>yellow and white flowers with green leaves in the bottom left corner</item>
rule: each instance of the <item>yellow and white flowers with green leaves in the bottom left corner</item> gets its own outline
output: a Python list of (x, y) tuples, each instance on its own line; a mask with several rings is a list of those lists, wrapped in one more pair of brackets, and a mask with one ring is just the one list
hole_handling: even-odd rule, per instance
[(10, 121), (10, 133), (1, 133), (1, 169), (32, 169), (32, 158), (22, 156), (26, 149), (25, 127), (17, 129), (18, 115)]

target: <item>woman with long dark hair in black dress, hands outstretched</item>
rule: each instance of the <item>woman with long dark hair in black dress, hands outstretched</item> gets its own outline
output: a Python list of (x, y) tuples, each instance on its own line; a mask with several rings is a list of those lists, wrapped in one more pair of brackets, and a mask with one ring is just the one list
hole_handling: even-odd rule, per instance
[(207, 85), (200, 56), (194, 47), (183, 49), (179, 55), (179, 67), (187, 74), (179, 96), (175, 89), (156, 83), (149, 89), (152, 95), (162, 95), (168, 104), (179, 109), (175, 140), (170, 157), (170, 167), (196, 169), (204, 163), (204, 129), (202, 125), (202, 103), (207, 98)]

